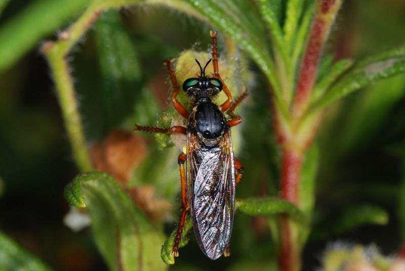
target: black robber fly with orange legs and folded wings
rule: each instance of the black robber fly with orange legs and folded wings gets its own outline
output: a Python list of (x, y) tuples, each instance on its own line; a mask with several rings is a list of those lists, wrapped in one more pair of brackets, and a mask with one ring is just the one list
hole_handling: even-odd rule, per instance
[[(137, 124), (137, 130), (167, 134), (178, 132), (187, 136), (187, 151), (178, 157), (182, 213), (171, 252), (171, 255), (176, 257), (179, 255), (179, 242), (188, 210), (201, 250), (211, 259), (230, 254), (235, 187), (244, 172), (241, 163), (233, 155), (230, 128), (242, 121), (240, 116), (233, 113), (233, 109), (246, 97), (246, 92), (232, 103), (229, 89), (218, 73), (217, 32), (210, 33), (213, 40), (212, 59), (204, 68), (195, 60), (201, 74), (185, 80), (182, 86), (192, 105), (190, 113), (176, 99), (180, 86), (177, 84), (170, 60), (166, 62), (173, 83), (171, 100), (180, 115), (188, 120), (187, 127), (160, 129)], [(211, 61), (214, 74), (208, 77), (205, 70)], [(216, 105), (212, 98), (222, 90), (228, 99), (222, 105)], [(224, 112), (230, 116), (229, 120), (225, 118)], [(187, 162), (186, 169), (184, 162)]]

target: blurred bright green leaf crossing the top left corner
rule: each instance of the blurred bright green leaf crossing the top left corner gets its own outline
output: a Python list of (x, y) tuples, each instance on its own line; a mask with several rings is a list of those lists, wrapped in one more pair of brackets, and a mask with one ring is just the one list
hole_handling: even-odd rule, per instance
[(37, 46), (44, 37), (63, 27), (90, 0), (34, 1), (0, 28), (0, 73)]

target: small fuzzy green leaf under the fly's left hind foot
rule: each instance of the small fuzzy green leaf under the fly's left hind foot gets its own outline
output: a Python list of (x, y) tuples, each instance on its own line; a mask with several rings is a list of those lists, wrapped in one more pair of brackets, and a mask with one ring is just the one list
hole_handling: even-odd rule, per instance
[[(177, 235), (177, 229), (178, 229), (178, 227), (176, 227), (173, 230), (172, 234), (165, 241), (165, 244), (163, 246), (161, 246), (160, 256), (161, 256), (161, 259), (167, 264), (174, 264), (174, 257), (172, 255), (170, 255), (170, 253), (172, 252), (172, 249), (174, 246), (174, 239), (176, 238), (176, 235)], [(184, 223), (184, 228), (183, 228), (183, 233), (182, 233), (182, 236), (180, 239), (179, 248), (182, 248), (188, 244), (188, 240), (189, 240), (188, 235), (192, 232), (192, 229), (193, 229), (193, 224), (191, 221), (191, 217), (188, 215), (186, 217), (186, 221)], [(179, 254), (180, 253), (181, 253), (181, 251), (179, 251)]]

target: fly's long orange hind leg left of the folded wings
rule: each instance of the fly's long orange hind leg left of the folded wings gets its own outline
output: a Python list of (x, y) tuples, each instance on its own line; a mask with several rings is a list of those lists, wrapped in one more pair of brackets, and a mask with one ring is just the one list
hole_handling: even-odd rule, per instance
[(177, 235), (176, 235), (176, 238), (174, 239), (174, 246), (173, 246), (172, 252), (170, 253), (170, 255), (175, 256), (175, 257), (179, 256), (178, 249), (179, 249), (181, 234), (183, 233), (183, 227), (184, 227), (184, 223), (186, 221), (187, 211), (188, 211), (188, 209), (190, 209), (190, 206), (188, 205), (188, 202), (187, 202), (186, 172), (184, 170), (184, 162), (186, 161), (186, 159), (187, 159), (187, 155), (184, 153), (181, 153), (179, 155), (179, 158), (177, 159), (177, 162), (180, 165), (182, 212), (181, 212), (181, 216), (180, 216), (179, 229), (177, 229)]

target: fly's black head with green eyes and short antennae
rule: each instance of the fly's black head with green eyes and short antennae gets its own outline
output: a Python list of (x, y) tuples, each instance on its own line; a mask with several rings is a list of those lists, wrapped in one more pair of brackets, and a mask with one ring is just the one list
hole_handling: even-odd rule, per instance
[(214, 77), (206, 76), (206, 68), (208, 64), (211, 62), (211, 59), (207, 62), (204, 68), (201, 68), (201, 65), (197, 60), (197, 62), (201, 75), (196, 78), (188, 78), (183, 83), (183, 91), (189, 97), (193, 97), (195, 99), (199, 98), (212, 98), (213, 96), (219, 94), (222, 91), (222, 82)]

